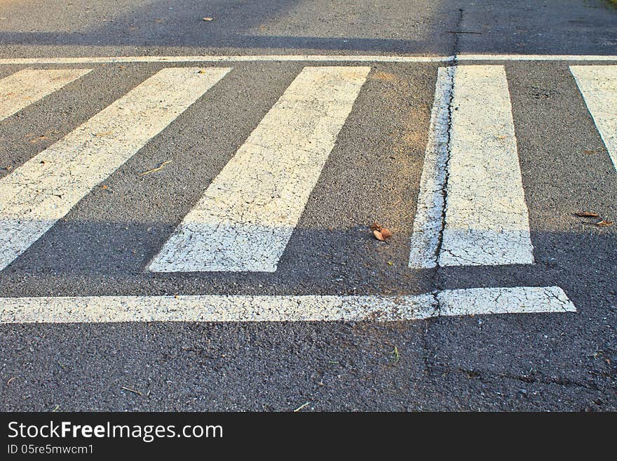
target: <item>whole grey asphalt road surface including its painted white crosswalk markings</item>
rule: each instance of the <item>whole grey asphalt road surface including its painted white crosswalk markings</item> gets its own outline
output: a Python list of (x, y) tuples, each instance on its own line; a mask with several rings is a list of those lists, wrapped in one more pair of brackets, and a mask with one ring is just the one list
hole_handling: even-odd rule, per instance
[(602, 0), (0, 0), (0, 408), (617, 410), (616, 107)]

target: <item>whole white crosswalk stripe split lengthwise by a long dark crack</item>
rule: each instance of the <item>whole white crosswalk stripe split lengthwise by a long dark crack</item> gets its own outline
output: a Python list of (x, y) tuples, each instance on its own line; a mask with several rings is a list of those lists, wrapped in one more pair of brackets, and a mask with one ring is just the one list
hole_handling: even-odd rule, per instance
[(430, 129), (409, 267), (533, 263), (506, 69), (440, 69)]

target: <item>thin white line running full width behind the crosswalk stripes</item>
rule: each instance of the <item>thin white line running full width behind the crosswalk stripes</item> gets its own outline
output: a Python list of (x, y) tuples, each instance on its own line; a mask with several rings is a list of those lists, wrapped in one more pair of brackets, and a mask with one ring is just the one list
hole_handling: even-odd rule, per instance
[(452, 62), (457, 61), (617, 61), (617, 55), (201, 55), (201, 56), (83, 56), (0, 58), (0, 65), (94, 64), (115, 62)]

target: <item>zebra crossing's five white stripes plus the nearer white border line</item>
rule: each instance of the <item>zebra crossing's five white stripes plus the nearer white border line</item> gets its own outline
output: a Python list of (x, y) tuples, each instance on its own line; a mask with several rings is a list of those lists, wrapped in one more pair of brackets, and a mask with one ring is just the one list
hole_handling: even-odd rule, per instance
[[(461, 61), (437, 70), (408, 266), (531, 265), (534, 248), (506, 67)], [(617, 165), (617, 65), (569, 68)], [(26, 253), (231, 69), (163, 67), (0, 178), (0, 270)], [(0, 120), (62, 91), (90, 70), (22, 69), (1, 79)], [(144, 270), (276, 272), (371, 72), (366, 65), (305, 65), (226, 166), (204, 185), (201, 198)], [(467, 290), (402, 298), (0, 298), (0, 321), (413, 320), (576, 311), (556, 286)], [(503, 307), (507, 299), (510, 308), (507, 302)], [(379, 312), (369, 307), (374, 305), (380, 306)], [(81, 314), (78, 306), (83, 306)]]

